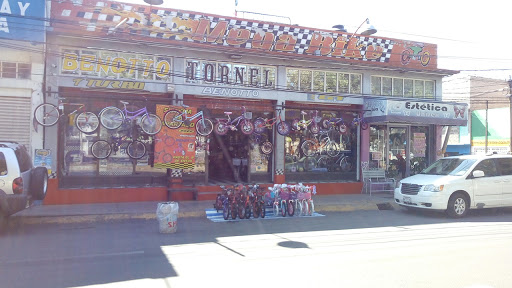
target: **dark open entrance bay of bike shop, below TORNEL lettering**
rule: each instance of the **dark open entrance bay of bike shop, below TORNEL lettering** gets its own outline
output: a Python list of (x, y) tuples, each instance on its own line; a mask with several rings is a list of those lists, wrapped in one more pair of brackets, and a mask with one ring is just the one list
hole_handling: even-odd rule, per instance
[[(184, 95), (182, 103), (197, 108), (194, 111), (203, 111), (214, 127), (218, 127), (219, 120), (231, 120), (224, 129), (197, 136), (194, 165), (183, 167), (185, 185), (272, 183), (274, 126), (268, 121), (264, 128), (255, 131), (253, 123), (255, 119), (274, 118), (276, 101)], [(244, 128), (244, 119), (252, 123), (252, 128)], [(170, 166), (174, 167), (172, 163)]]

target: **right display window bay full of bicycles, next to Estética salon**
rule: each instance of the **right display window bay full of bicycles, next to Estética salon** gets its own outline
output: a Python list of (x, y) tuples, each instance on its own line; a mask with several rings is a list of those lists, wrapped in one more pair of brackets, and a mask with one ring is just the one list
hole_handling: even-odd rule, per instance
[(361, 105), (287, 101), (285, 106), (292, 124), (284, 136), (286, 182), (357, 181)]

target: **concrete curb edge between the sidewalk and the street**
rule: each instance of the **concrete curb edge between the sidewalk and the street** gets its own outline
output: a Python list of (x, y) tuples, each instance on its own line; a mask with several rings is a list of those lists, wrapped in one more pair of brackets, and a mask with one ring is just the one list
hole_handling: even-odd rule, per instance
[[(361, 204), (331, 204), (317, 205), (318, 212), (352, 212), (352, 211), (378, 211), (377, 204), (391, 204), (393, 209), (398, 209), (394, 202), (361, 203)], [(180, 211), (178, 218), (205, 217), (205, 211)], [(9, 218), (9, 226), (40, 225), (40, 224), (76, 224), (96, 223), (130, 219), (156, 220), (156, 213), (114, 213), (98, 215), (55, 215), (55, 216), (12, 216)]]

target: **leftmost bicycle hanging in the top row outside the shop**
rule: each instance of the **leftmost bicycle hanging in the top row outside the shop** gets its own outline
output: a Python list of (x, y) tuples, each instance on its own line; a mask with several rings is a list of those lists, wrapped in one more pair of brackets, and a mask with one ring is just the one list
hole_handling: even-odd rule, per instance
[(66, 114), (65, 110), (70, 109), (68, 107), (73, 107), (76, 109), (67, 113), (67, 116), (75, 115), (75, 126), (80, 132), (91, 134), (98, 129), (100, 123), (98, 116), (92, 112), (86, 111), (85, 104), (66, 103), (63, 100), (63, 98), (59, 99), (58, 107), (50, 103), (43, 103), (37, 106), (34, 110), (34, 119), (36, 122), (45, 127), (53, 126), (57, 124), (60, 117)]

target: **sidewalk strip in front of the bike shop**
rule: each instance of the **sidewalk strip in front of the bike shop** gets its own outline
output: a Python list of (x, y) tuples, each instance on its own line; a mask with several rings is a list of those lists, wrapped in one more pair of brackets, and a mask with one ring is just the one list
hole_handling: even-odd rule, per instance
[[(389, 194), (349, 194), (313, 196), (315, 211), (347, 212), (357, 210), (396, 209)], [(180, 201), (178, 218), (206, 217), (205, 210), (213, 208), (213, 202)], [(42, 205), (31, 207), (11, 215), (11, 225), (42, 223), (82, 223), (123, 219), (156, 219), (158, 202), (99, 203), (74, 205)], [(377, 205), (378, 204), (378, 205)]]

